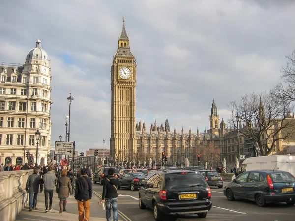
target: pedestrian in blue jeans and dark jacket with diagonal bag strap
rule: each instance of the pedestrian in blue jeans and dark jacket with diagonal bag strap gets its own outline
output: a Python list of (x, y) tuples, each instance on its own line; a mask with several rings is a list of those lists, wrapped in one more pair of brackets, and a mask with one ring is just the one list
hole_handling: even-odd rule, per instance
[(115, 169), (109, 168), (109, 177), (105, 179), (102, 190), (101, 203), (106, 202), (107, 221), (111, 221), (111, 206), (113, 209), (114, 221), (118, 221), (118, 192), (120, 182), (117, 175), (115, 175)]

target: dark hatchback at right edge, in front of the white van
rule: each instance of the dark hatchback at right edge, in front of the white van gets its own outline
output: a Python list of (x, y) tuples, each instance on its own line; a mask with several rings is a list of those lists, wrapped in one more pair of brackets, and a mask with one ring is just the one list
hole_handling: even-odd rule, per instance
[(224, 187), (228, 200), (255, 201), (260, 207), (271, 202), (295, 204), (295, 178), (281, 170), (252, 170), (240, 174)]

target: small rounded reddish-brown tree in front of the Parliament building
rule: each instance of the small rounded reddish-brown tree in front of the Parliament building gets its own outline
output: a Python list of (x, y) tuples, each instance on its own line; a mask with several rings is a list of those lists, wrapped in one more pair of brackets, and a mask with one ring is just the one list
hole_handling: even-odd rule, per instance
[(220, 161), (221, 149), (214, 143), (199, 146), (199, 154), (203, 162), (207, 161), (208, 165), (213, 166)]

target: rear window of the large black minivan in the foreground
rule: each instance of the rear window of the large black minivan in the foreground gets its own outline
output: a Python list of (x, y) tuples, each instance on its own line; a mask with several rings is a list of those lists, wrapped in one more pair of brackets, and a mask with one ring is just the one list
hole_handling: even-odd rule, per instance
[(165, 188), (191, 188), (191, 187), (207, 187), (207, 183), (200, 174), (196, 173), (171, 173), (165, 176)]

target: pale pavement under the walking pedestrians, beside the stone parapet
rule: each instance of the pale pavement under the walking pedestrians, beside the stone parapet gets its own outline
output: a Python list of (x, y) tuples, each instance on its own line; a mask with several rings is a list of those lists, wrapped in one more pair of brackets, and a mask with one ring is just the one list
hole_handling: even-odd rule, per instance
[[(93, 193), (90, 203), (90, 219), (89, 221), (106, 221), (106, 211), (98, 206), (98, 197)], [(48, 200), (49, 204), (49, 200)], [(113, 219), (113, 211), (112, 219)], [(44, 191), (38, 193), (37, 209), (29, 212), (29, 204), (16, 217), (16, 221), (78, 221), (78, 205), (74, 195), (67, 198), (66, 212), (59, 213), (59, 198), (54, 192), (52, 211), (45, 213), (45, 196)]]

